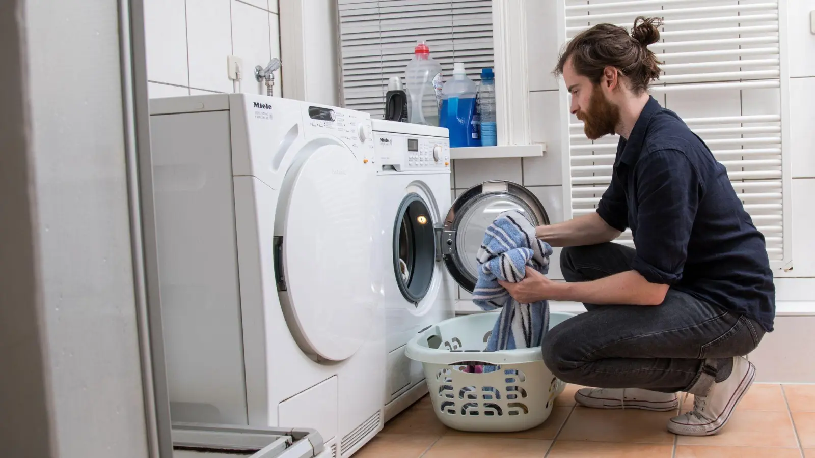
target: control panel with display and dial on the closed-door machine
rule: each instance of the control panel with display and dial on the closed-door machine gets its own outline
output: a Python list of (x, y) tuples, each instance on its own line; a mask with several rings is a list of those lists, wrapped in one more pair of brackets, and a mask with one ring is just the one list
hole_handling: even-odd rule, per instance
[(306, 105), (304, 110), (306, 132), (337, 137), (355, 154), (359, 153), (365, 164), (373, 162), (373, 130), (368, 113), (318, 105)]

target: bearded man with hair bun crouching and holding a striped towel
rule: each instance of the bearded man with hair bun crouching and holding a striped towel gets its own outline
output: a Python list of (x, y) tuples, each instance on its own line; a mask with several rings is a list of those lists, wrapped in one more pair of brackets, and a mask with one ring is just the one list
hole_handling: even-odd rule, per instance
[[(775, 289), (764, 237), (718, 163), (675, 113), (647, 93), (659, 77), (655, 19), (600, 24), (575, 37), (557, 64), (571, 112), (589, 139), (619, 134), (610, 186), (597, 213), (539, 227), (566, 247), (567, 283), (532, 269), (504, 284), (518, 302), (584, 302), (584, 314), (544, 338), (544, 361), (563, 381), (597, 386), (586, 407), (672, 411), (677, 392), (694, 410), (674, 434), (716, 434), (749, 389), (747, 355), (772, 332)], [(631, 228), (637, 249), (610, 243)]]

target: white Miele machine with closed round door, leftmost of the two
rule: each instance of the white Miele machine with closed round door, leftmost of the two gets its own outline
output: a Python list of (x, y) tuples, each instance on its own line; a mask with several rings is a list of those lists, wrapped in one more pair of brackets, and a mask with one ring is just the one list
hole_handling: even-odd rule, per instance
[(262, 95), (151, 100), (173, 421), (381, 429), (385, 317), (367, 113)]

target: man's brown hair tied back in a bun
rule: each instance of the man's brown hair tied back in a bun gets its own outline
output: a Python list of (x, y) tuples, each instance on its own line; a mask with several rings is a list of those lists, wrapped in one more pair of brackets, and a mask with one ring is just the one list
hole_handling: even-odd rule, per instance
[(634, 20), (631, 35), (623, 27), (597, 24), (572, 38), (557, 60), (554, 73), (561, 75), (571, 57), (577, 74), (600, 84), (606, 67), (614, 67), (631, 81), (630, 89), (641, 94), (651, 80), (659, 78), (659, 62), (648, 45), (659, 42), (658, 27), (662, 24), (659, 18), (639, 16)]

